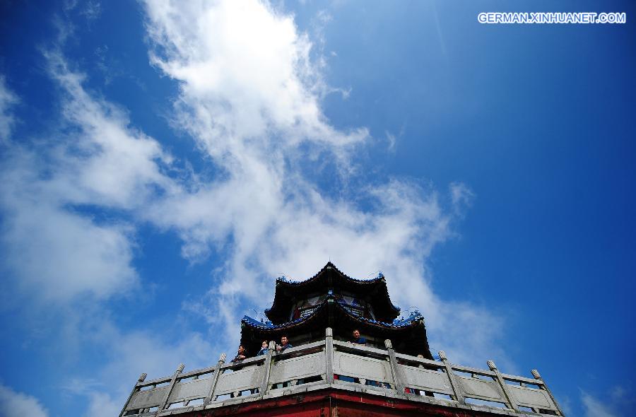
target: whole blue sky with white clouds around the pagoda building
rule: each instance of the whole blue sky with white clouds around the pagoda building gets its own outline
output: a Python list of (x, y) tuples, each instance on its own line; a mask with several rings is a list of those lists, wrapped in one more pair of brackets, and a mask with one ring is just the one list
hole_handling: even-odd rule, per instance
[(112, 416), (331, 259), (383, 271), (452, 362), (537, 368), (568, 415), (627, 416), (634, 11), (3, 3), (0, 413)]

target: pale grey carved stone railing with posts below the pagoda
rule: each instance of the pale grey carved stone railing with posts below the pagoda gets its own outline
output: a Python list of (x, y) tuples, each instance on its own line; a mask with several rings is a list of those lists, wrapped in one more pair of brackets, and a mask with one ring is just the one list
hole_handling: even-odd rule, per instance
[[(120, 416), (163, 416), (259, 401), (318, 389), (346, 389), (384, 397), (423, 401), (476, 411), (505, 410), (508, 415), (563, 416), (536, 370), (534, 378), (502, 374), (493, 361), (489, 370), (334, 341), (330, 328), (322, 341), (275, 351), (240, 363), (175, 373), (146, 381), (141, 374)], [(497, 406), (499, 408), (497, 408)]]

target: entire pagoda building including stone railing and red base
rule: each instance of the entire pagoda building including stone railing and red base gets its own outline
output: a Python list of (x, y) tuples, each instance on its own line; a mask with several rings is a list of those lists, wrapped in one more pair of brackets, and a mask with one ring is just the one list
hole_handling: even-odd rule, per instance
[[(221, 353), (207, 368), (142, 373), (119, 417), (563, 416), (537, 370), (435, 360), (423, 316), (400, 317), (382, 274), (355, 279), (329, 262), (305, 281), (278, 278), (265, 315), (242, 318), (247, 354), (231, 362)], [(283, 336), (292, 346), (277, 346)]]

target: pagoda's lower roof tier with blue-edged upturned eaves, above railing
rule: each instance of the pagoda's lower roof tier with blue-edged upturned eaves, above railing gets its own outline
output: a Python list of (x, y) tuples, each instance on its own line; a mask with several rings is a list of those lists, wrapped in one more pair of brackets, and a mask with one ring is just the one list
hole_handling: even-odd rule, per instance
[(301, 336), (306, 339), (303, 343), (324, 337), (325, 327), (334, 328), (334, 336), (348, 340), (351, 331), (359, 329), (365, 337), (372, 336), (378, 341), (391, 339), (396, 351), (411, 355), (422, 354), (425, 358), (432, 358), (426, 337), (424, 319), (419, 312), (413, 312), (406, 319), (394, 319), (391, 322), (379, 322), (374, 319), (360, 317), (347, 308), (347, 304), (338, 300), (333, 294), (317, 305), (315, 310), (306, 317), (300, 317), (290, 322), (275, 324), (260, 322), (245, 316), (241, 320), (241, 343), (248, 350), (258, 351), (261, 341), (280, 340), (281, 336)]

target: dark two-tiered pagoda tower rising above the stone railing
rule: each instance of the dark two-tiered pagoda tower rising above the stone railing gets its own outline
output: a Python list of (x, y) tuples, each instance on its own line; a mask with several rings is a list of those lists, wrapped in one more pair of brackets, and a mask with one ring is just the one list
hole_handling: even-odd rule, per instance
[(390, 339), (397, 352), (432, 359), (424, 317), (418, 311), (401, 319), (399, 314), (382, 273), (359, 280), (328, 262), (305, 281), (277, 278), (273, 304), (265, 310), (269, 320), (243, 317), (241, 344), (257, 352), (262, 341), (279, 341), (285, 335), (298, 346), (324, 339), (327, 327), (334, 330), (334, 339), (350, 341), (352, 331), (358, 329), (367, 346), (383, 348), (384, 341)]

